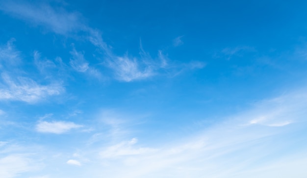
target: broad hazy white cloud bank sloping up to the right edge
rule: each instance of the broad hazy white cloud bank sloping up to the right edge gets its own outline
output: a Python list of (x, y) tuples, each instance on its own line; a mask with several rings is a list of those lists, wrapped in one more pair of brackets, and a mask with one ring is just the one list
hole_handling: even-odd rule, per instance
[[(300, 150), (304, 148), (298, 148), (294, 155), (286, 148), (304, 139), (302, 126), (306, 127), (306, 111), (302, 109), (306, 107), (306, 92), (295, 91), (257, 102), (250, 110), (233, 115), (222, 124), (177, 139), (166, 147), (137, 147), (137, 140), (133, 138), (102, 148), (99, 155), (113, 173), (112, 178), (154, 178), (166, 174), (171, 178), (182, 175), (214, 178), (252, 175), (256, 178), (281, 174), (286, 178), (292, 174), (286, 167), (296, 170), (295, 175), (303, 178), (302, 163), (306, 161), (306, 154), (302, 155)], [(257, 117), (256, 114), (267, 117), (261, 124), (246, 124)], [(286, 123), (287, 119), (292, 122)], [(262, 161), (268, 156), (270, 162)]]

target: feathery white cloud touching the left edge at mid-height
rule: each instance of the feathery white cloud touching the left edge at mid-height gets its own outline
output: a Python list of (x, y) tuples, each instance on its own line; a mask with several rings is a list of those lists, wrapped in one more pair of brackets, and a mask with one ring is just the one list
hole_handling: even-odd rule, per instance
[(0, 89), (0, 100), (19, 100), (35, 103), (47, 96), (59, 95), (64, 91), (60, 85), (43, 86), (26, 77), (18, 77), (17, 81), (12, 80), (5, 73), (2, 73), (1, 77), (4, 84)]

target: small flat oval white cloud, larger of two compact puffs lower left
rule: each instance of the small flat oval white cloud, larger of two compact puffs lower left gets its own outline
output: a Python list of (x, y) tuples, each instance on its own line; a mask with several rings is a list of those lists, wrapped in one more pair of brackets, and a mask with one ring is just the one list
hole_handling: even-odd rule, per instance
[(40, 133), (51, 133), (51, 134), (63, 134), (69, 132), (72, 129), (82, 127), (73, 122), (64, 121), (39, 121), (36, 125), (36, 131)]

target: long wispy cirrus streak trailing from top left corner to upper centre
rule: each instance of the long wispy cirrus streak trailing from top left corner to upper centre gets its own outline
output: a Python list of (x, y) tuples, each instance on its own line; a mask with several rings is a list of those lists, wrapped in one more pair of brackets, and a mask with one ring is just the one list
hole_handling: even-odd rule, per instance
[[(105, 56), (105, 66), (112, 69), (114, 73), (114, 78), (119, 81), (131, 82), (135, 80), (144, 80), (157, 75), (161, 72), (161, 68), (169, 69), (166, 67), (166, 61), (161, 58), (162, 64), (159, 65), (154, 62), (153, 59), (144, 56), (141, 58), (128, 57), (114, 54), (110, 47), (103, 41), (101, 33), (89, 27), (84, 22), (81, 21), (82, 16), (77, 12), (67, 12), (62, 8), (54, 9), (47, 3), (37, 3), (32, 5), (26, 2), (16, 2), (16, 1), (0, 1), (2, 11), (17, 17), (22, 20), (32, 22), (34, 24), (43, 25), (51, 31), (61, 34), (74, 36), (74, 33), (84, 32), (85, 38), (92, 43), (94, 46), (100, 48)], [(181, 37), (176, 38), (174, 45), (182, 45)], [(78, 53), (78, 52), (77, 52)], [(75, 49), (71, 52), (77, 59), (72, 59), (70, 65), (77, 71), (85, 72), (95, 76), (96, 78), (101, 78), (101, 73), (99, 70), (89, 67), (89, 63), (85, 60), (81, 60), (80, 55), (77, 54)], [(160, 52), (159, 52), (160, 53)], [(78, 56), (76, 56), (78, 55)], [(175, 73), (180, 73), (178, 71), (182, 70), (182, 66), (186, 65), (176, 65), (172, 66), (172, 70)], [(185, 69), (199, 69), (202, 67), (187, 67)], [(170, 71), (169, 71), (170, 72)], [(167, 72), (167, 73), (169, 73)], [(175, 75), (173, 75), (175, 76)]]

